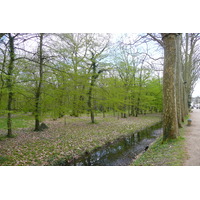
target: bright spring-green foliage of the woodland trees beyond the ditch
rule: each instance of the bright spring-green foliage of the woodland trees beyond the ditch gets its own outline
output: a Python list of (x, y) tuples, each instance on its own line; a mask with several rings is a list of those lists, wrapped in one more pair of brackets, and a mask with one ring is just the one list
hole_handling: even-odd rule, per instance
[[(21, 40), (35, 36), (30, 41)], [(143, 52), (123, 43), (115, 48), (110, 44), (109, 37), (108, 34), (84, 33), (45, 35), (38, 113), (40, 121), (45, 117), (57, 119), (64, 115), (80, 117), (91, 110), (89, 99), (94, 113), (122, 113), (128, 117), (162, 111), (162, 80), (145, 63)], [(40, 81), (38, 34), (21, 35), (16, 39), (23, 44), (20, 48), (28, 48), (28, 51), (26, 54), (23, 50), (15, 52), (16, 58), (21, 58), (14, 63), (11, 112), (34, 115)], [(34, 48), (29, 47), (32, 42)], [(17, 49), (18, 43), (15, 45)], [(5, 47), (2, 51), (9, 54)], [(3, 63), (2, 53), (0, 63)], [(8, 63), (7, 55), (5, 72)], [(95, 70), (92, 67), (94, 63)], [(0, 85), (4, 83), (4, 87), (0, 87), (0, 115), (5, 115), (8, 113), (8, 77), (3, 72), (0, 76)], [(98, 78), (91, 85), (92, 77)], [(13, 128), (24, 127), (23, 123), (13, 119)], [(0, 126), (5, 129), (6, 121)]]

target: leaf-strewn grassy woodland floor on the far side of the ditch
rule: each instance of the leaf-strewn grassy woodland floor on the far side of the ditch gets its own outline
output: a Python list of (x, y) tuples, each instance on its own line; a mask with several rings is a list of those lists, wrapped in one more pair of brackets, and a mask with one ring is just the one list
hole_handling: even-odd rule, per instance
[[(18, 128), (17, 137), (0, 141), (0, 165), (57, 165), (77, 158), (84, 152), (105, 145), (107, 142), (151, 126), (161, 120), (159, 115), (147, 115), (117, 119), (96, 116), (98, 123), (90, 124), (90, 118), (66, 117), (56, 121), (46, 120), (49, 129), (34, 132), (31, 128)], [(28, 121), (28, 120), (27, 120)], [(31, 120), (30, 120), (31, 122)]]

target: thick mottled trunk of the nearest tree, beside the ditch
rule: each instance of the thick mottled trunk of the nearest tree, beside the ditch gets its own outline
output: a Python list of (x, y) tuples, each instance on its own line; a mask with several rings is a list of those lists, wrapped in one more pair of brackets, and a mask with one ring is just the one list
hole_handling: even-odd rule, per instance
[(163, 140), (174, 139), (178, 134), (176, 107), (176, 60), (178, 34), (163, 33), (164, 75), (163, 75)]

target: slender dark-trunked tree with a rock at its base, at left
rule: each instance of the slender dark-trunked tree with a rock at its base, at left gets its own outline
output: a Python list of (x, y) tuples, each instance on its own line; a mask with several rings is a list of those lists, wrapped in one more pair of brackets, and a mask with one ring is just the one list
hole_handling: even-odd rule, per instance
[[(44, 73), (45, 67), (50, 60), (49, 51), (45, 38), (48, 34), (36, 33), (28, 34), (23, 39), (24, 47), (19, 48), (21, 51), (21, 72), (20, 78), (23, 80), (21, 88), (26, 92), (23, 95), (29, 98), (29, 111), (32, 111), (35, 117), (35, 131), (40, 131), (40, 122), (42, 114), (42, 95), (44, 93)], [(26, 42), (26, 43), (25, 43)], [(29, 46), (29, 43), (32, 46)], [(45, 49), (46, 48), (46, 49)], [(48, 49), (49, 50), (49, 49)], [(27, 92), (29, 93), (27, 95)]]

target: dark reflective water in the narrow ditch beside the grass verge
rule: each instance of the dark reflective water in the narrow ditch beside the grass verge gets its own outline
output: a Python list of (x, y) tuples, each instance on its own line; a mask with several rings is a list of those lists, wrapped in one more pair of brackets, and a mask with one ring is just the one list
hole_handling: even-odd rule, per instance
[(85, 154), (72, 163), (72, 166), (127, 166), (162, 133), (161, 124), (125, 136), (104, 147)]

